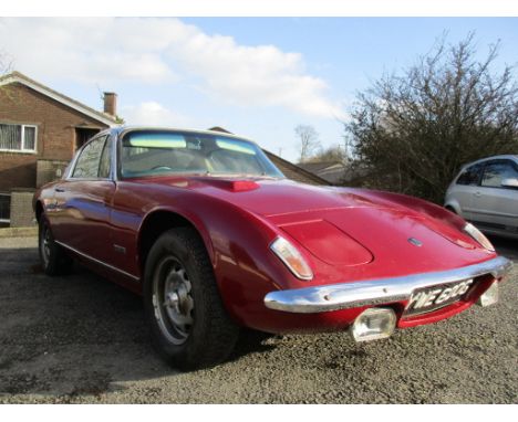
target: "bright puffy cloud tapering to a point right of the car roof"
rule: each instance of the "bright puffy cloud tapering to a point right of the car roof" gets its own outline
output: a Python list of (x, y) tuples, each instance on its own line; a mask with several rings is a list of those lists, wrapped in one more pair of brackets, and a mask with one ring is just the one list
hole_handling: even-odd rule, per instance
[(302, 56), (273, 45), (238, 45), (230, 36), (209, 36), (195, 27), (177, 31), (169, 54), (206, 83), (208, 92), (238, 105), (284, 106), (330, 117), (340, 110), (325, 96), (327, 84), (304, 73)]

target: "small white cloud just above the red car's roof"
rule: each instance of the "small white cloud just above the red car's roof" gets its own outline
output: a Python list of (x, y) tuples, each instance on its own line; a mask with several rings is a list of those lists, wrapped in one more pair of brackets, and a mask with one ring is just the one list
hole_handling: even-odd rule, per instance
[(128, 125), (185, 127), (191, 122), (187, 116), (173, 112), (157, 102), (144, 102), (123, 107), (122, 115)]

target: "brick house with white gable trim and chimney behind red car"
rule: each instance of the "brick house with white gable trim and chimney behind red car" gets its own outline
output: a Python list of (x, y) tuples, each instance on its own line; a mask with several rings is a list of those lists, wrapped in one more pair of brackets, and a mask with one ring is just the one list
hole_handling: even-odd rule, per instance
[(102, 113), (19, 72), (0, 78), (0, 222), (13, 191), (53, 180), (86, 139), (116, 124), (115, 106), (113, 93)]

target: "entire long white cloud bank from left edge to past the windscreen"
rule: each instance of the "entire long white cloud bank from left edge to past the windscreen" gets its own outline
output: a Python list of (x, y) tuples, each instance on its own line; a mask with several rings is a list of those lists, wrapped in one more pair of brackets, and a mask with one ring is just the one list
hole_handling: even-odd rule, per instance
[[(0, 49), (34, 77), (83, 83), (191, 81), (217, 101), (341, 116), (301, 54), (208, 35), (177, 19), (2, 19)], [(191, 82), (189, 82), (191, 83)]]

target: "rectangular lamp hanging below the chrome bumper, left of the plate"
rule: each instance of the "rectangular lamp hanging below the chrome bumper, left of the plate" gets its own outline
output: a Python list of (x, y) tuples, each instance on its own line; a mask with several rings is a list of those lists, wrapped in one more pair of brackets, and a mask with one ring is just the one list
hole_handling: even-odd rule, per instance
[(370, 308), (354, 319), (350, 331), (355, 341), (379, 340), (392, 336), (396, 320), (391, 308)]

